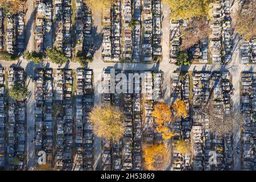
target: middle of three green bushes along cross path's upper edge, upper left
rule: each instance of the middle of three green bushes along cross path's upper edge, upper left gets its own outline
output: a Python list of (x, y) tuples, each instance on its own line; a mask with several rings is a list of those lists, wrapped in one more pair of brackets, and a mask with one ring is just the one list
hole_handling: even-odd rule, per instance
[(67, 57), (64, 55), (64, 53), (61, 51), (58, 51), (56, 47), (47, 49), (46, 55), (49, 57), (52, 63), (58, 64), (58, 65), (67, 63), (67, 60), (68, 60)]

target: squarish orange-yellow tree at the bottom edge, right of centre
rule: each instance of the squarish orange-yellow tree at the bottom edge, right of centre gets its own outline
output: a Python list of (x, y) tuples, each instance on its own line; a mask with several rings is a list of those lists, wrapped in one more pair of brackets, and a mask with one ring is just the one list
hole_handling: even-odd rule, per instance
[(147, 170), (164, 170), (167, 161), (167, 150), (163, 144), (143, 146), (144, 167)]

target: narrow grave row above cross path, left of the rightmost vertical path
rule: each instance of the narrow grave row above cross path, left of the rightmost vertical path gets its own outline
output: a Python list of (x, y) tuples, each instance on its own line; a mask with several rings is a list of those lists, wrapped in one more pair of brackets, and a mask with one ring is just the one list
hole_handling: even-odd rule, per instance
[(222, 0), (222, 11), (223, 62), (228, 63), (231, 59), (232, 49), (230, 0)]

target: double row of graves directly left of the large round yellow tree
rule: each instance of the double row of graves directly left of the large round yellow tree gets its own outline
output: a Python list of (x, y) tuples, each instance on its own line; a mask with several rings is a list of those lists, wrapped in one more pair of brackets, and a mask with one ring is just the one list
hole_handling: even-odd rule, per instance
[(93, 71), (77, 69), (76, 117), (75, 117), (75, 171), (92, 171), (94, 159), (93, 124), (89, 114), (93, 106)]

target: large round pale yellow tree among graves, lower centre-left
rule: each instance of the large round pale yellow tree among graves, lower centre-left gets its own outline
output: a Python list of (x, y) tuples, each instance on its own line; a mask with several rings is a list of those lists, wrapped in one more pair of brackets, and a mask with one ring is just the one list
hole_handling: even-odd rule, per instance
[(98, 137), (118, 141), (125, 133), (125, 114), (115, 106), (96, 106), (89, 118), (94, 124), (93, 131)]

